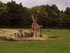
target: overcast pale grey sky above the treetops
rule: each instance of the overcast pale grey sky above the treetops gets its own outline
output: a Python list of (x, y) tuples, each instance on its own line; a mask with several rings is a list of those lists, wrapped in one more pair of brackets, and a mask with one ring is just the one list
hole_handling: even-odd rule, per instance
[[(0, 1), (7, 3), (11, 0), (0, 0)], [(43, 4), (44, 5), (56, 4), (60, 10), (65, 10), (66, 7), (70, 7), (70, 0), (14, 0), (14, 1), (16, 1), (17, 3), (22, 2), (23, 6), (29, 8), (37, 5), (43, 5)]]

